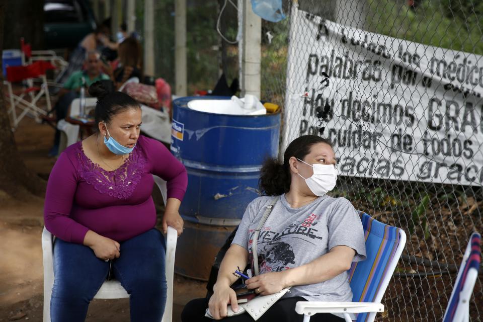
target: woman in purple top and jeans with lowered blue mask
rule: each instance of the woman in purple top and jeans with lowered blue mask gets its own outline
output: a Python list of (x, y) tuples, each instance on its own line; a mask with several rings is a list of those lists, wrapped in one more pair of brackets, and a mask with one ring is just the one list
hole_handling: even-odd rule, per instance
[(62, 152), (49, 177), (45, 226), (54, 243), (52, 321), (84, 321), (108, 276), (130, 294), (131, 321), (159, 321), (166, 301), (165, 239), (154, 228), (153, 178), (167, 181), (163, 230), (183, 231), (178, 210), (184, 166), (160, 142), (139, 135), (141, 108), (130, 96), (108, 94), (100, 82), (99, 131)]

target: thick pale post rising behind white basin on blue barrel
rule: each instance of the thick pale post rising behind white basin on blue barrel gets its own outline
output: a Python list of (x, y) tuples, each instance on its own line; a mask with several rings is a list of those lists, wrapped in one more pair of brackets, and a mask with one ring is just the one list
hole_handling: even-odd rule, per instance
[(250, 0), (243, 0), (243, 42), (241, 43), (241, 95), (260, 98), (262, 20), (252, 11)]

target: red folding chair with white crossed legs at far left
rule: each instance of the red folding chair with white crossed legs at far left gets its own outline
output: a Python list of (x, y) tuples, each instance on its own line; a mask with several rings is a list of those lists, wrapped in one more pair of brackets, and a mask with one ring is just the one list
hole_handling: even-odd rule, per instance
[[(36, 61), (27, 66), (8, 66), (7, 67), (7, 81), (4, 84), (8, 87), (7, 97), (10, 100), (9, 115), (11, 117), (12, 127), (15, 129), (20, 121), (28, 113), (38, 118), (40, 115), (47, 115), (47, 111), (51, 110), (50, 95), (45, 78), (45, 72), (48, 69), (55, 68), (50, 62)], [(28, 81), (32, 78), (41, 78), (42, 84), (40, 87), (28, 86), (16, 91), (12, 88), (12, 83)], [(32, 84), (29, 82), (30, 85)], [(34, 95), (35, 94), (35, 95)], [(30, 98), (27, 98), (30, 95)], [(45, 95), (47, 110), (41, 108), (38, 103), (39, 99)], [(23, 111), (17, 115), (17, 108)]]

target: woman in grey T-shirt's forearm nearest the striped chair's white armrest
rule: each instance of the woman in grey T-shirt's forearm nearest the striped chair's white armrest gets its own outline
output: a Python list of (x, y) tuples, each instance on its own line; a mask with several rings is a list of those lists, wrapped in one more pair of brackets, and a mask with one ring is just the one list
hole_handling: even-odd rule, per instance
[(316, 284), (330, 280), (351, 267), (355, 251), (347, 246), (334, 247), (312, 262), (283, 271), (285, 287)]

